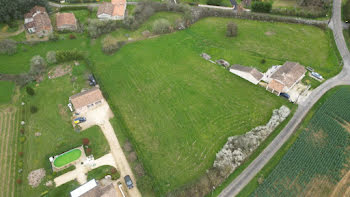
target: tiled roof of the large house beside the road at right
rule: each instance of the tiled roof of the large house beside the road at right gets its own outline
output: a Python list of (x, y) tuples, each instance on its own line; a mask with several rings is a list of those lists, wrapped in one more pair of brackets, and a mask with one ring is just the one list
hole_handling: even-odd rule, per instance
[(278, 80), (288, 88), (291, 88), (305, 73), (305, 67), (298, 62), (286, 62), (271, 75), (271, 78)]

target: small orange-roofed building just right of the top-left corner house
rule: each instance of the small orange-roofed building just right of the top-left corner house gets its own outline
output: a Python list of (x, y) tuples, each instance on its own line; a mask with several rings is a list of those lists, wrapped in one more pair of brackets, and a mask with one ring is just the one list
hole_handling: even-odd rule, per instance
[(73, 13), (57, 13), (56, 14), (56, 27), (58, 30), (70, 30), (75, 31), (78, 29), (77, 20)]

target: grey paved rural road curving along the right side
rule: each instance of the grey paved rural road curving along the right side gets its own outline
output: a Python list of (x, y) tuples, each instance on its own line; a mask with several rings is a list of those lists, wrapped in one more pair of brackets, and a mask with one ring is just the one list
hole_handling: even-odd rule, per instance
[(267, 164), (273, 155), (289, 139), (297, 129), (303, 118), (312, 106), (331, 88), (338, 85), (350, 85), (350, 53), (346, 46), (341, 21), (341, 0), (333, 0), (333, 16), (329, 27), (332, 29), (338, 50), (342, 56), (344, 65), (342, 71), (335, 77), (327, 80), (298, 106), (293, 118), (268, 147), (219, 195), (219, 197), (236, 196)]

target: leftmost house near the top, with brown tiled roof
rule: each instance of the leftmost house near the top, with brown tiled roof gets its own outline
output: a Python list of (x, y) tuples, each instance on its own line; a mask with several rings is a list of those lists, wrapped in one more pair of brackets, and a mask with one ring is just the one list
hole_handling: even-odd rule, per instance
[(46, 9), (41, 6), (33, 7), (24, 15), (24, 27), (28, 33), (36, 33), (39, 37), (52, 32), (52, 25)]

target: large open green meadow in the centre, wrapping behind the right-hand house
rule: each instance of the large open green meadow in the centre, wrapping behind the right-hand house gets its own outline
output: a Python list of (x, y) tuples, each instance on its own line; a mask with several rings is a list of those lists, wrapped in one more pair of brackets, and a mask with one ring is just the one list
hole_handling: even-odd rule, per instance
[[(93, 56), (103, 90), (124, 119), (160, 194), (204, 173), (227, 137), (265, 124), (272, 110), (285, 103), (200, 53), (261, 70), (291, 60), (337, 72), (335, 53), (320, 29), (234, 20), (239, 36), (226, 38), (229, 21), (204, 19), (187, 30), (126, 45), (110, 58)], [(275, 34), (267, 36), (268, 31)]]

